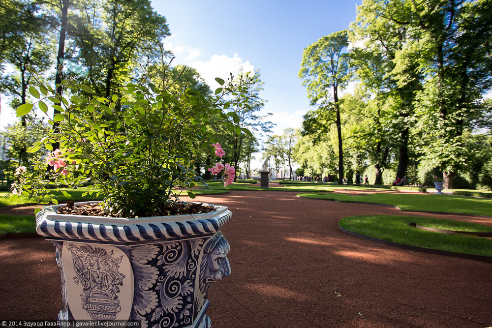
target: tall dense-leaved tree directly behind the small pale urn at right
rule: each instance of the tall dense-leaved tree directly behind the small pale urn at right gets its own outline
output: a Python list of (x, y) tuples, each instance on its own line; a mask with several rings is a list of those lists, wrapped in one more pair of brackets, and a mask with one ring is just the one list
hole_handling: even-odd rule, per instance
[(484, 90), (491, 88), (492, 1), (417, 1), (408, 49), (423, 54), (426, 75), (417, 94), (422, 164), (443, 171), (444, 187), (467, 161), (463, 134), (471, 129)]

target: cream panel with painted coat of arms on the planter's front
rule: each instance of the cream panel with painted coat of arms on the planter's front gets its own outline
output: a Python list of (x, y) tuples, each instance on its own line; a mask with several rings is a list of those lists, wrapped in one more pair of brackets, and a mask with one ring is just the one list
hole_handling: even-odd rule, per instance
[(108, 245), (64, 242), (63, 253), (67, 287), (80, 291), (78, 299), (77, 294), (68, 298), (74, 319), (128, 319), (133, 279), (123, 251)]

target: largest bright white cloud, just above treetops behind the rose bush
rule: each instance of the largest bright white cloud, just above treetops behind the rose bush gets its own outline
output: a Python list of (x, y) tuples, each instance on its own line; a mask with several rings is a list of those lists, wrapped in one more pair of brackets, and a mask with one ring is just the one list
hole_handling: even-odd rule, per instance
[(193, 61), (190, 66), (200, 73), (200, 76), (211, 89), (218, 87), (215, 81), (216, 77), (226, 80), (230, 73), (237, 76), (241, 68), (243, 72), (254, 72), (254, 66), (249, 63), (249, 60), (243, 62), (238, 54), (235, 54), (232, 58), (226, 55), (214, 55), (207, 61)]

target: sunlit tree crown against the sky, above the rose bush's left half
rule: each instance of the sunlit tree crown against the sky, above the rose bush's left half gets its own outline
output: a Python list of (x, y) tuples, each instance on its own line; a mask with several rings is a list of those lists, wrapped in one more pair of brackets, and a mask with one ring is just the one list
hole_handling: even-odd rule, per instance
[(81, 82), (106, 98), (130, 80), (144, 57), (158, 57), (161, 40), (170, 35), (166, 19), (149, 0), (83, 2), (69, 21)]

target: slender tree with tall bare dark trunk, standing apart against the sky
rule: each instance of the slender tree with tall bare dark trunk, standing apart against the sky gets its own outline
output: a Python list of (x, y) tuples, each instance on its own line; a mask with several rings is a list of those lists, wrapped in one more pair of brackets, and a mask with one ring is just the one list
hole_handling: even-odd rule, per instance
[(343, 181), (343, 146), (338, 88), (343, 89), (351, 77), (347, 46), (347, 30), (323, 36), (304, 49), (302, 68), (299, 71), (299, 77), (307, 87), (307, 97), (311, 105), (318, 106), (317, 111), (305, 116), (303, 123), (305, 133), (312, 133), (315, 127), (320, 127), (316, 122), (318, 119), (325, 121), (323, 131), (327, 131), (332, 123), (337, 126), (338, 183), (340, 184)]

